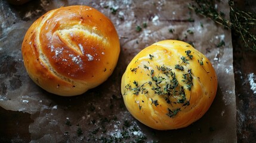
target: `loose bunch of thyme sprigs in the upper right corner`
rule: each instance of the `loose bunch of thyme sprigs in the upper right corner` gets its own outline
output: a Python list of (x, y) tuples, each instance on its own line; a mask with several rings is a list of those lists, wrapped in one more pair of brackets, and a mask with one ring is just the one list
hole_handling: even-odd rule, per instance
[(222, 11), (215, 8), (215, 3), (220, 0), (195, 0), (196, 5), (190, 4), (190, 10), (196, 14), (211, 18), (215, 23), (220, 24), (226, 29), (231, 29), (239, 35), (246, 48), (256, 52), (256, 14), (248, 11), (238, 10), (234, 1), (229, 1), (230, 20), (225, 18)]

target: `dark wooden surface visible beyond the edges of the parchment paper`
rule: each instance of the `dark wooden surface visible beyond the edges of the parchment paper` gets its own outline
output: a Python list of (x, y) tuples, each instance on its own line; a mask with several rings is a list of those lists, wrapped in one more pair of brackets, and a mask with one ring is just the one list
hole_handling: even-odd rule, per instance
[[(254, 0), (238, 0), (236, 2), (236, 5), (240, 9), (255, 10), (256, 1)], [(256, 74), (256, 53), (245, 49), (239, 39), (239, 36), (233, 35), (232, 33), (237, 136), (238, 142), (255, 142), (256, 95), (249, 85), (248, 74)], [(8, 111), (0, 107), (0, 142), (29, 142), (29, 124), (32, 122), (33, 120), (30, 119), (30, 114)]]

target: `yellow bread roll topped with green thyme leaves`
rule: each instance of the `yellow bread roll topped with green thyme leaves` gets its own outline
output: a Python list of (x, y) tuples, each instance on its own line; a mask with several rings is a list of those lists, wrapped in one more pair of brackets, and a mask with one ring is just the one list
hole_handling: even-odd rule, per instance
[(189, 126), (206, 113), (217, 91), (212, 64), (186, 42), (156, 42), (139, 52), (122, 76), (128, 111), (158, 130)]

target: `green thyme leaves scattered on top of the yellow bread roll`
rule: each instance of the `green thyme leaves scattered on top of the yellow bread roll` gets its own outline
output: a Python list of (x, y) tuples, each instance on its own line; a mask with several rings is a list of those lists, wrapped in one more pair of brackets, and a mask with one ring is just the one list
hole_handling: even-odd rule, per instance
[[(136, 80), (132, 82), (132, 85), (129, 83), (125, 86), (125, 89), (127, 91), (124, 95), (127, 95), (128, 93), (134, 94), (134, 95), (145, 95), (150, 92), (154, 92), (156, 95), (160, 96), (159, 98), (164, 98), (167, 104), (170, 104), (171, 107), (172, 104), (180, 104), (180, 107), (175, 108), (168, 108), (168, 113), (166, 113), (169, 117), (174, 117), (176, 114), (178, 114), (179, 111), (181, 111), (181, 107), (190, 105), (190, 98), (191, 98), (191, 89), (193, 87), (193, 74), (192, 69), (189, 69), (184, 71), (184, 67), (187, 64), (190, 63), (190, 60), (193, 60), (192, 51), (187, 50), (185, 51), (186, 55), (181, 56), (181, 63), (175, 65), (175, 69), (180, 69), (183, 71), (183, 79), (178, 80), (176, 78), (176, 74), (174, 71), (172, 71), (171, 68), (165, 65), (156, 65), (155, 69), (153, 67), (149, 67), (148, 65), (143, 64), (144, 69), (147, 69), (149, 73), (147, 73), (148, 76), (150, 76), (150, 80), (148, 82), (143, 83), (142, 85), (138, 83)], [(149, 54), (149, 59), (153, 60), (153, 55)], [(199, 61), (199, 60), (198, 60)], [(201, 62), (202, 64), (202, 62)], [(150, 65), (150, 63), (149, 63)], [(152, 69), (152, 70), (149, 70)], [(130, 69), (131, 72), (134, 72), (135, 69)], [(184, 85), (180, 85), (180, 83), (183, 82)], [(149, 88), (150, 86), (150, 88)], [(186, 87), (186, 88), (185, 88)], [(186, 91), (190, 91), (190, 98), (189, 100), (186, 97)], [(147, 95), (148, 96), (148, 95)], [(158, 107), (159, 101), (153, 100), (153, 98), (150, 98), (152, 101), (152, 105), (155, 105)], [(136, 101), (135, 101), (136, 102)], [(138, 105), (138, 109), (141, 110), (142, 105), (144, 104), (144, 101), (136, 102)]]

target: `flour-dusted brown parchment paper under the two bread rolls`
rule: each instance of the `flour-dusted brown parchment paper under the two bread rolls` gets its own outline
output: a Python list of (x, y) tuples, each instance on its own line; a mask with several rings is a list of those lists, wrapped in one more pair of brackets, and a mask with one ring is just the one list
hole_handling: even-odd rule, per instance
[[(189, 3), (193, 1), (41, 0), (13, 7), (0, 1), (1, 107), (31, 114), (31, 142), (236, 142), (230, 31), (190, 11)], [(59, 97), (36, 86), (29, 79), (21, 56), (21, 42), (33, 21), (48, 10), (67, 5), (89, 5), (101, 11), (113, 21), (121, 41), (121, 55), (112, 76), (76, 97)], [(229, 17), (227, 0), (215, 7)], [(140, 32), (137, 26), (142, 28)], [(217, 71), (218, 91), (211, 108), (202, 119), (184, 129), (150, 129), (135, 120), (122, 101), (121, 77), (129, 61), (141, 49), (164, 39), (192, 43)], [(225, 45), (217, 48), (221, 41)]]

